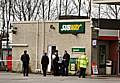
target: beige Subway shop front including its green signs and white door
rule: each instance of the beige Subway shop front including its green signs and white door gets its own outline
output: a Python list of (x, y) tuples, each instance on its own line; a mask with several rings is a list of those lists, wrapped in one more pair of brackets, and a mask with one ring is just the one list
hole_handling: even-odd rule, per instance
[[(87, 70), (88, 74), (91, 74), (92, 38), (90, 19), (16, 22), (13, 23), (13, 26), (17, 27), (17, 31), (16, 34), (12, 35), (12, 43), (18, 44), (12, 47), (13, 60), (18, 60), (23, 50), (27, 49), (31, 58), (30, 67), (32, 72), (41, 71), (40, 62), (43, 51), (48, 53), (50, 60), (48, 72), (51, 72), (52, 54), (56, 50), (59, 57), (63, 57), (64, 51), (67, 50), (71, 58), (70, 70), (75, 71), (76, 65), (73, 59), (78, 58), (82, 54), (80, 51), (85, 49), (89, 57)], [(20, 67), (19, 69), (21, 69)], [(16, 71), (16, 68), (18, 68), (17, 64), (13, 63), (12, 69)]]

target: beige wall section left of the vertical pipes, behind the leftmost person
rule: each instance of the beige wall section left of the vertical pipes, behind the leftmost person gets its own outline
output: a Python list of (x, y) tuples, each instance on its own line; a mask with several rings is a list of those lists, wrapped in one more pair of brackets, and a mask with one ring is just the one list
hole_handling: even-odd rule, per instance
[[(13, 25), (17, 27), (17, 33), (12, 35), (13, 36), (12, 43), (28, 45), (28, 46), (21, 45), (13, 46), (12, 50), (13, 60), (20, 60), (20, 57), (23, 54), (24, 50), (28, 50), (28, 53), (30, 55), (30, 67), (32, 67), (32, 71), (34, 71), (36, 63), (37, 22), (15, 23)], [(13, 62), (13, 71), (21, 71), (22, 70), (21, 68), (22, 66), (20, 66), (21, 61), (16, 63)]]

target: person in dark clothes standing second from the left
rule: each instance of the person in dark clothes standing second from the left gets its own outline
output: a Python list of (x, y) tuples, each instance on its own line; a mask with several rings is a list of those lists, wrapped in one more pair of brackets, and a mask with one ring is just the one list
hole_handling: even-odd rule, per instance
[(43, 76), (46, 76), (46, 72), (49, 64), (49, 58), (47, 56), (47, 53), (44, 53), (44, 55), (42, 56), (41, 64), (42, 64)]

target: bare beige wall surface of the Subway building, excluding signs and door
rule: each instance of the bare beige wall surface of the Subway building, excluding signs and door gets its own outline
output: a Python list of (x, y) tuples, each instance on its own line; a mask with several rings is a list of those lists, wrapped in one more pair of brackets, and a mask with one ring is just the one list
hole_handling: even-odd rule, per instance
[[(59, 22), (85, 22), (85, 33), (73, 34), (59, 33)], [(91, 28), (90, 20), (61, 20), (45, 22), (16, 22), (14, 26), (18, 27), (17, 33), (13, 34), (13, 44), (27, 44), (28, 46), (13, 46), (13, 59), (20, 59), (24, 49), (28, 50), (30, 55), (30, 67), (33, 72), (41, 69), (40, 59), (43, 50), (47, 51), (48, 45), (56, 45), (58, 53), (63, 56), (66, 49), (72, 57), (72, 47), (85, 47), (89, 56), (89, 67), (87, 71), (91, 72)], [(51, 29), (53, 25), (55, 29)], [(77, 57), (77, 56), (76, 56)], [(36, 60), (37, 59), (37, 60)], [(36, 62), (37, 61), (37, 62)], [(21, 62), (20, 62), (21, 64)], [(16, 70), (17, 64), (13, 63), (13, 69)], [(19, 68), (21, 71), (21, 67)]]

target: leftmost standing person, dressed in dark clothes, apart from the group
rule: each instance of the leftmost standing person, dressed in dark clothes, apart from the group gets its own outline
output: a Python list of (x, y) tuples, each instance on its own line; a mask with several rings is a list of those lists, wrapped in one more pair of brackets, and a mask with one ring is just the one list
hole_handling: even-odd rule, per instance
[(28, 76), (30, 57), (29, 54), (27, 54), (27, 50), (24, 50), (24, 54), (21, 56), (21, 61), (23, 63), (23, 75)]

